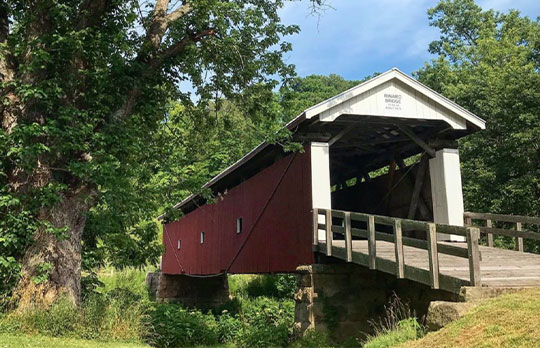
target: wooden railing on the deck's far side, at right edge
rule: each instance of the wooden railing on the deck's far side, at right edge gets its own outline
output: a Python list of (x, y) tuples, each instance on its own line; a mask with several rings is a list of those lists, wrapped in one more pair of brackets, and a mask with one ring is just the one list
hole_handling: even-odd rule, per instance
[[(494, 246), (493, 235), (500, 235), (506, 237), (513, 237), (516, 241), (516, 250), (524, 251), (523, 239), (540, 240), (540, 233), (532, 232), (527, 228), (531, 225), (540, 226), (540, 218), (532, 216), (521, 215), (502, 215), (502, 214), (488, 214), (488, 213), (471, 213), (465, 212), (465, 225), (473, 226), (474, 222), (480, 222), (482, 226), (479, 226), (481, 233), (487, 234), (487, 245)], [(515, 229), (494, 227), (494, 224), (506, 223), (514, 225)]]

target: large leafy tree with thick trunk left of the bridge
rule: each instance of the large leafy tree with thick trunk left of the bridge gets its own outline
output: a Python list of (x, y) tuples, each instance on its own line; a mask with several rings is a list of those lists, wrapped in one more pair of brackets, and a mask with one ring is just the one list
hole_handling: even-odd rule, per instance
[(198, 111), (222, 98), (245, 110), (266, 104), (275, 79), (292, 73), (282, 38), (298, 28), (280, 23), (282, 5), (0, 3), (0, 272), (2, 286), (16, 282), (20, 307), (61, 294), (78, 301), (81, 252), (97, 240), (83, 242), (89, 211), (123, 221), (115, 232), (131, 242), (112, 253), (137, 254), (139, 263), (156, 256), (137, 253), (155, 234), (125, 210), (145, 211), (126, 200), (149, 189), (160, 147), (174, 145), (157, 140), (168, 102)]

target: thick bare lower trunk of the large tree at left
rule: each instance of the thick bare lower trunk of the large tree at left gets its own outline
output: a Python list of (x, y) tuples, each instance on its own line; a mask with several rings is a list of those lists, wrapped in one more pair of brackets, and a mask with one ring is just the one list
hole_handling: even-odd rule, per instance
[(86, 214), (94, 194), (87, 189), (61, 195), (54, 206), (42, 209), (40, 218), (56, 228), (60, 236), (41, 228), (22, 259), (22, 277), (14, 292), (18, 310), (49, 306), (65, 296), (78, 304), (81, 296), (81, 240)]

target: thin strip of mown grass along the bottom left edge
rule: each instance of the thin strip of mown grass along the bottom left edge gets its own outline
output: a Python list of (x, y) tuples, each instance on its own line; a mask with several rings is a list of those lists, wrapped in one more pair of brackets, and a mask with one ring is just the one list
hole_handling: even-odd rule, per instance
[(0, 348), (150, 348), (145, 344), (0, 334)]

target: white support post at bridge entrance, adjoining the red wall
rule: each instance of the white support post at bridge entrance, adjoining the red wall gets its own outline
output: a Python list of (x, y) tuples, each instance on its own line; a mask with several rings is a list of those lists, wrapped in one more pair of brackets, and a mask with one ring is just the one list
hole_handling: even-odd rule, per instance
[[(328, 143), (311, 143), (311, 199), (313, 208), (332, 209)], [(326, 223), (324, 215), (319, 215), (319, 223)], [(325, 230), (319, 229), (318, 235), (319, 240), (326, 240)]]

